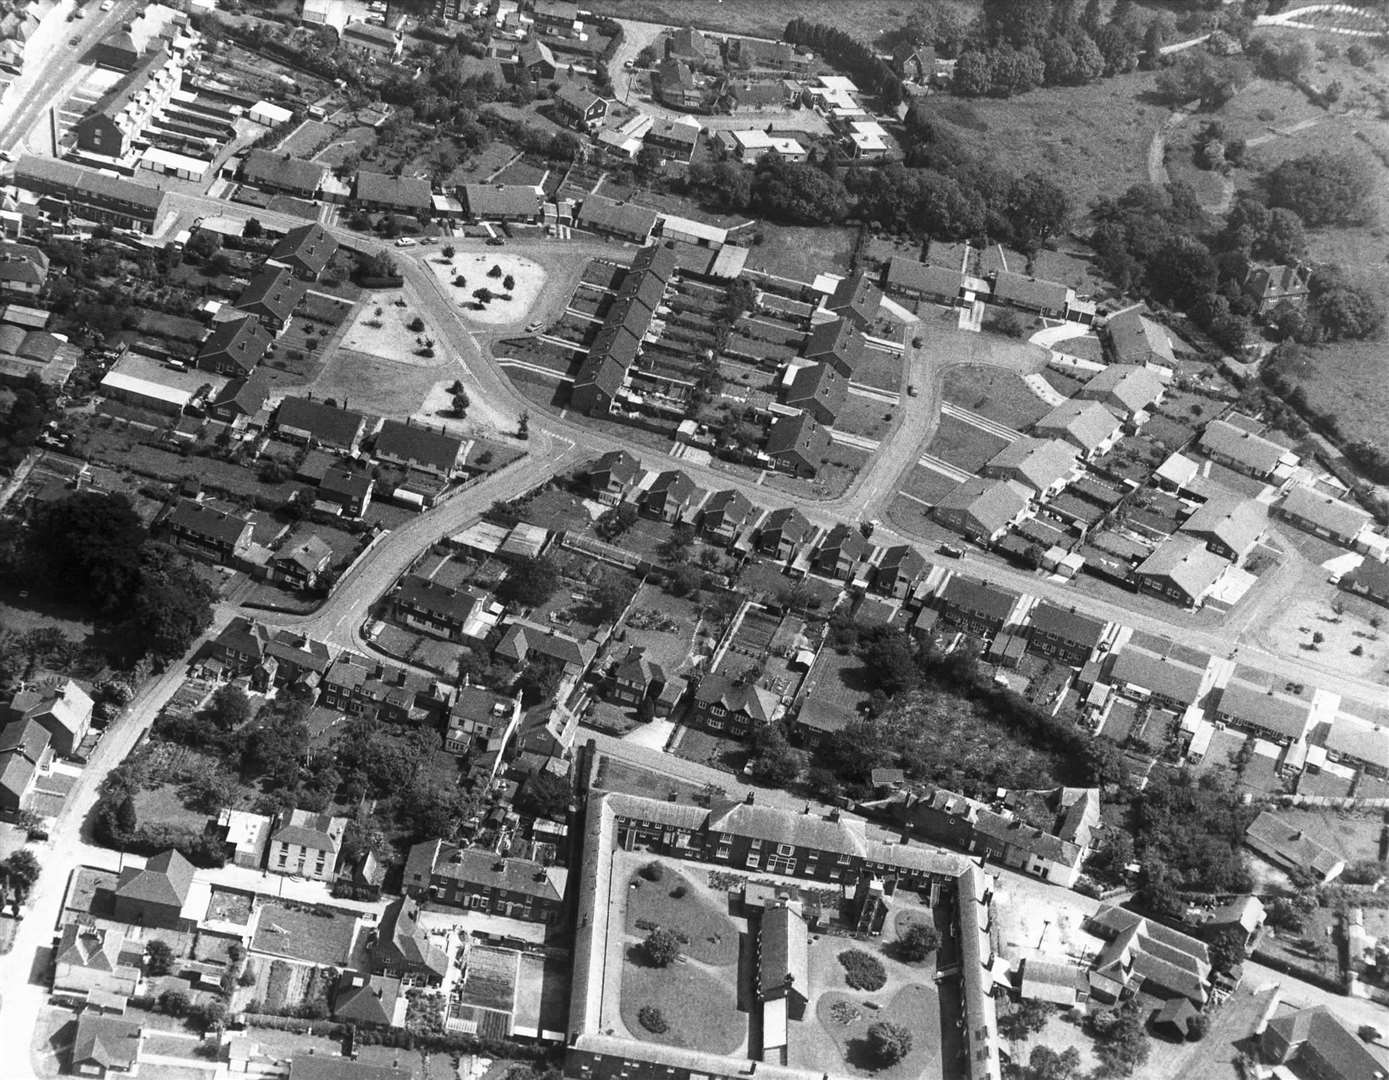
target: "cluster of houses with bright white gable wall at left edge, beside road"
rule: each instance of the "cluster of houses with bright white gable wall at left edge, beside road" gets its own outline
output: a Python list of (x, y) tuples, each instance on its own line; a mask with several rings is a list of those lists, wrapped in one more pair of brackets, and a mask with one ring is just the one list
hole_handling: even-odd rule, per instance
[(71, 679), (18, 690), (0, 708), (0, 811), (31, 809), (54, 761), (81, 757), (92, 708), (92, 698)]

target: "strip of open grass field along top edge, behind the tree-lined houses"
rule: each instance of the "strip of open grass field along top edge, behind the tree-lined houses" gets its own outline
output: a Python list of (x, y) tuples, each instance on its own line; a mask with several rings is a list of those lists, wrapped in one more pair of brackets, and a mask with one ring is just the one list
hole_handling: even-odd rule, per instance
[[(961, 14), (974, 4), (951, 3)], [(913, 11), (904, 0), (597, 0), (589, 4), (596, 14), (614, 18), (661, 22), (667, 26), (693, 25), (724, 33), (753, 37), (781, 37), (793, 18), (824, 22), (864, 42), (904, 24)]]

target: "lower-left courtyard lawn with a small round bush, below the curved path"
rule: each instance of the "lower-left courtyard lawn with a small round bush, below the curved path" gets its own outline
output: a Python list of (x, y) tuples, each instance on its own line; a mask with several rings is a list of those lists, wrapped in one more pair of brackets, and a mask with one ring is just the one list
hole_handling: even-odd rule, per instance
[[(738, 1012), (738, 988), (732, 973), (718, 976), (689, 963), (653, 968), (628, 950), (622, 965), (622, 1023), (633, 1038), (688, 1047), (706, 1054), (731, 1055), (743, 1045), (747, 1020)], [(643, 1006), (660, 1009), (669, 1024), (657, 1034), (642, 1026)]]

